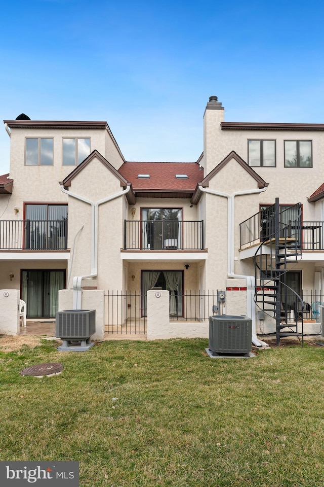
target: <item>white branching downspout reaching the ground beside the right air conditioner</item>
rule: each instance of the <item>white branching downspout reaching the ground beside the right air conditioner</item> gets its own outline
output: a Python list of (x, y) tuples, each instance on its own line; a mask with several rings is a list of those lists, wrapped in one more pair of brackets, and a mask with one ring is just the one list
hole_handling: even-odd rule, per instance
[(255, 289), (255, 277), (254, 275), (241, 275), (234, 273), (234, 199), (235, 196), (263, 193), (267, 190), (267, 186), (259, 189), (252, 189), (247, 191), (236, 191), (232, 195), (222, 193), (221, 191), (215, 191), (212, 189), (204, 188), (199, 185), (200, 191), (203, 193), (213, 194), (215, 196), (222, 196), (227, 198), (227, 275), (236, 279), (246, 279), (247, 281), (247, 312), (248, 316), (252, 319), (252, 343), (256, 346), (268, 346), (267, 343), (261, 341), (257, 337), (256, 333), (256, 318), (255, 318), (255, 302), (254, 302), (254, 289)]

